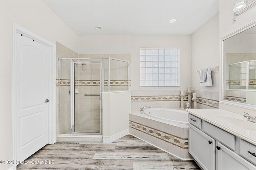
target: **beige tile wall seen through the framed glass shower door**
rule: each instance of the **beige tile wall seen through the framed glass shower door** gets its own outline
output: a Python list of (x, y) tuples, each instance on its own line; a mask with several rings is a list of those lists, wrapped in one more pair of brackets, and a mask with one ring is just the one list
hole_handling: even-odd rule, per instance
[(100, 95), (100, 84), (86, 84), (84, 80), (100, 80), (100, 64), (76, 65), (76, 78), (80, 92), (75, 94), (75, 104), (78, 110), (75, 113), (76, 132), (100, 132), (100, 100), (99, 96), (84, 96), (84, 94)]

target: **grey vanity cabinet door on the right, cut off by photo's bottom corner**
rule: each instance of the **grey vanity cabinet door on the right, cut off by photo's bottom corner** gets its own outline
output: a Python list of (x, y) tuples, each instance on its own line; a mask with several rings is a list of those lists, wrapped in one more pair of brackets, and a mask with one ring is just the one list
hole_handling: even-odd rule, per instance
[(217, 164), (218, 170), (255, 170), (256, 166), (228, 149), (221, 143), (218, 143), (217, 148)]

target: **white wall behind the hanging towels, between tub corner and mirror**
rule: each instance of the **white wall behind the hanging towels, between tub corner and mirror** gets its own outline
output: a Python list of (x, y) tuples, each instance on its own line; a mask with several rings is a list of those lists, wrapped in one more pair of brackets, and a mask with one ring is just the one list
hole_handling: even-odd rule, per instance
[(212, 71), (212, 86), (201, 87), (196, 70), (220, 64), (219, 14), (207, 21), (191, 35), (191, 77), (194, 90), (219, 92), (219, 72)]

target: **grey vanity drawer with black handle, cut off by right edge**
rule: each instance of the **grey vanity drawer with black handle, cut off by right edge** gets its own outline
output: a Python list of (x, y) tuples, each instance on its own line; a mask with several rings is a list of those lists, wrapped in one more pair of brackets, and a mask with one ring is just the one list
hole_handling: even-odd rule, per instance
[(256, 146), (240, 140), (240, 155), (256, 165)]

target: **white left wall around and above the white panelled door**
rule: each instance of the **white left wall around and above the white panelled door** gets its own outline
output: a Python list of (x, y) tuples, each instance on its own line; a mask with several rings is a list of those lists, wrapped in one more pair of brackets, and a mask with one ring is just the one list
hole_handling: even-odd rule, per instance
[[(74, 51), (78, 35), (41, 0), (1, 0), (0, 21), (0, 160), (12, 160), (12, 22)], [(1, 170), (10, 167), (0, 164)]]

